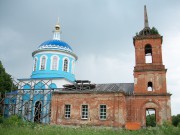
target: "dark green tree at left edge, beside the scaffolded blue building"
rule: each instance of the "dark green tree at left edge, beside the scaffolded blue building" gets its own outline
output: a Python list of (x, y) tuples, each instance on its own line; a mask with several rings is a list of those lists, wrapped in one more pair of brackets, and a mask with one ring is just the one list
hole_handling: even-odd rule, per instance
[(5, 92), (9, 92), (12, 89), (16, 89), (16, 87), (11, 80), (11, 75), (6, 73), (2, 62), (0, 61), (0, 93), (3, 95)]

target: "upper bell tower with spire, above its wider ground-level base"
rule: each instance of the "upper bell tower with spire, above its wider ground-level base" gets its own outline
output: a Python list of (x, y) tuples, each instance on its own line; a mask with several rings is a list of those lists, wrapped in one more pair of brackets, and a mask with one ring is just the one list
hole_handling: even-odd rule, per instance
[(133, 38), (135, 47), (134, 94), (166, 94), (166, 69), (162, 61), (163, 37), (148, 24), (144, 6), (144, 29)]

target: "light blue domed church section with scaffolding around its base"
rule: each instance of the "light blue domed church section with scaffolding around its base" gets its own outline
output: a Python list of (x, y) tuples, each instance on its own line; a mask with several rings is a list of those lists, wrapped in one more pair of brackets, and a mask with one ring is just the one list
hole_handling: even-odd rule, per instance
[(53, 39), (43, 42), (32, 53), (31, 77), (18, 79), (14, 111), (26, 120), (49, 123), (52, 92), (61, 91), (63, 85), (73, 84), (75, 81), (77, 56), (71, 46), (61, 40), (60, 30), (58, 21)]

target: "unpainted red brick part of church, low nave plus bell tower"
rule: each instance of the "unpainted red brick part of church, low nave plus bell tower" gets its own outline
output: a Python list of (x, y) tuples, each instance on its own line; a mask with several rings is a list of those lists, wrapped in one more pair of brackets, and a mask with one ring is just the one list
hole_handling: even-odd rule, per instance
[(166, 68), (162, 61), (163, 37), (150, 28), (146, 7), (144, 28), (133, 37), (135, 48), (134, 83), (90, 84), (76, 81), (64, 85), (52, 96), (51, 123), (124, 127), (146, 126), (147, 113), (156, 124), (171, 120)]

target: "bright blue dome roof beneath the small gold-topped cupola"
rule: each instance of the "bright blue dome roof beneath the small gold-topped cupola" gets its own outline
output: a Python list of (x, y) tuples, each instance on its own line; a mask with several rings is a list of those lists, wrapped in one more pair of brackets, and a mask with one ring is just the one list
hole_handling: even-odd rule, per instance
[(65, 50), (72, 52), (72, 48), (61, 40), (48, 40), (43, 42), (38, 49)]

